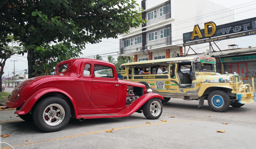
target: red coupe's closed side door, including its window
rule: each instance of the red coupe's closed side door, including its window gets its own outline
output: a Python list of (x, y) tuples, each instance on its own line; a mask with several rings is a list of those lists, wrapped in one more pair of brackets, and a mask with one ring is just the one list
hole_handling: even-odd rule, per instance
[(90, 108), (115, 108), (118, 106), (119, 83), (114, 67), (93, 62), (92, 94)]

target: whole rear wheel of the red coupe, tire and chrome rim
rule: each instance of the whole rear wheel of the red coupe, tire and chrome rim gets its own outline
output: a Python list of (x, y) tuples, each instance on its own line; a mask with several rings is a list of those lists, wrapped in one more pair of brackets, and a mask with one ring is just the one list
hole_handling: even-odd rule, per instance
[(46, 132), (59, 131), (70, 120), (70, 106), (59, 97), (47, 97), (38, 102), (33, 111), (36, 126)]

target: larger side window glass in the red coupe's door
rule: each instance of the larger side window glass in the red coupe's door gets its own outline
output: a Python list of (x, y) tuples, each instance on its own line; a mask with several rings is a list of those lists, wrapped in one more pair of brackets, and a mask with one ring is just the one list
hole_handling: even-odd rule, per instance
[(94, 65), (94, 76), (100, 78), (114, 78), (113, 69), (109, 66)]

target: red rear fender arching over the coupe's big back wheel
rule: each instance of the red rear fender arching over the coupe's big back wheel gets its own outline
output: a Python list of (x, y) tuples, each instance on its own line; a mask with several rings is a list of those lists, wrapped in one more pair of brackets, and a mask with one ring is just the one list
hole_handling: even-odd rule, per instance
[(30, 111), (30, 109), (33, 107), (33, 105), (36, 103), (36, 101), (42, 97), (44, 94), (47, 94), (49, 92), (60, 92), (60, 93), (63, 93), (65, 94), (66, 96), (68, 96), (68, 98), (71, 100), (73, 106), (74, 106), (74, 109), (75, 109), (75, 112), (76, 112), (76, 115), (77, 115), (77, 110), (76, 110), (76, 104), (75, 104), (75, 101), (74, 99), (65, 91), (61, 90), (61, 89), (57, 89), (57, 88), (45, 88), (45, 89), (42, 89), (40, 91), (37, 91), (35, 92), (26, 102), (25, 104), (21, 107), (21, 109), (15, 111), (14, 113), (15, 114), (19, 114), (19, 115), (24, 115), (26, 113), (28, 113)]

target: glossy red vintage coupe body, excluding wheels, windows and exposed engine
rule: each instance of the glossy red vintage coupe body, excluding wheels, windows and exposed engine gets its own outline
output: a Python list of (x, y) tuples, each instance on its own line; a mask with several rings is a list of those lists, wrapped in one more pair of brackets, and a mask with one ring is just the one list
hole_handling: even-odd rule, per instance
[[(64, 64), (68, 65), (66, 71), (58, 72)], [(83, 74), (86, 64), (91, 66), (90, 76)], [(112, 68), (113, 78), (92, 75), (94, 65)], [(127, 86), (143, 87), (143, 95), (130, 105), (126, 105)], [(113, 63), (78, 58), (58, 63), (53, 76), (37, 76), (20, 83), (2, 109), (19, 108), (15, 114), (25, 115), (45, 97), (55, 96), (68, 102), (71, 116), (77, 119), (126, 117), (152, 98), (164, 100), (159, 94), (146, 93), (144, 84), (118, 79)]]

